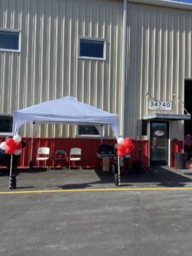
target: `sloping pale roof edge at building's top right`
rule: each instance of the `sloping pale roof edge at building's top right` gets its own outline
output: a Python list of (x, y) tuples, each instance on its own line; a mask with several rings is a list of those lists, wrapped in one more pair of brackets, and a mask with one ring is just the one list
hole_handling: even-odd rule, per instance
[(181, 3), (181, 2), (176, 2), (176, 1), (168, 1), (168, 0), (128, 0), (128, 2), (144, 3), (144, 4), (165, 6), (165, 7), (177, 8), (177, 9), (192, 10), (192, 4), (191, 3)]

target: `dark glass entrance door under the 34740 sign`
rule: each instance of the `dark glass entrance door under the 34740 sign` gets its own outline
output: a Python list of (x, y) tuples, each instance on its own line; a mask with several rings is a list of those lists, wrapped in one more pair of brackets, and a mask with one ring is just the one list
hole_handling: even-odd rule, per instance
[(167, 165), (169, 123), (152, 121), (150, 127), (150, 163)]

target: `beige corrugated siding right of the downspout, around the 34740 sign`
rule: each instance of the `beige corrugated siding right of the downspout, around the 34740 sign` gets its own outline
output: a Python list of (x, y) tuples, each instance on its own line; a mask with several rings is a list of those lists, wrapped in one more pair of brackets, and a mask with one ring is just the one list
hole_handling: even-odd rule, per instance
[(127, 17), (125, 135), (136, 137), (136, 120), (152, 113), (148, 96), (172, 101), (172, 113), (183, 113), (173, 94), (183, 101), (183, 79), (192, 77), (192, 12), (128, 3)]

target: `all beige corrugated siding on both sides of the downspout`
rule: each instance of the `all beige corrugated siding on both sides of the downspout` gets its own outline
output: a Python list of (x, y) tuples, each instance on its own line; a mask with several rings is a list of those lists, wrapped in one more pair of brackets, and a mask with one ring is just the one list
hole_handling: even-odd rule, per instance
[[(183, 113), (183, 78), (192, 77), (189, 10), (128, 3), (125, 136), (148, 111), (146, 92)], [(21, 52), (0, 52), (0, 113), (77, 96), (120, 113), (123, 2), (113, 0), (0, 0), (0, 27), (21, 31)], [(107, 60), (78, 59), (78, 38), (107, 40)], [(182, 122), (172, 125), (172, 134)], [(75, 126), (42, 125), (40, 137), (74, 137)], [(20, 131), (31, 136), (29, 125)], [(112, 131), (106, 129), (106, 136)]]

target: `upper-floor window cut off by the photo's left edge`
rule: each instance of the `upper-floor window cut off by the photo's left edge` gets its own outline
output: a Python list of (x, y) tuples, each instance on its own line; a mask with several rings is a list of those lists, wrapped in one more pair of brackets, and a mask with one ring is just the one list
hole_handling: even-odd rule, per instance
[(0, 30), (0, 50), (20, 51), (20, 32)]

